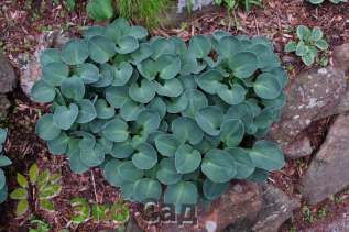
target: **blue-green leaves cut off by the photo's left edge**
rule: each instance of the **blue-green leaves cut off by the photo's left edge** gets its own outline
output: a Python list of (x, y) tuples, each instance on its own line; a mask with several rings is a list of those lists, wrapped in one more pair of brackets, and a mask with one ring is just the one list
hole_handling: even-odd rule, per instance
[(0, 203), (2, 203), (8, 198), (8, 186), (6, 183), (4, 172), (1, 167), (9, 166), (12, 162), (4, 156), (3, 145), (8, 136), (7, 129), (0, 129)]

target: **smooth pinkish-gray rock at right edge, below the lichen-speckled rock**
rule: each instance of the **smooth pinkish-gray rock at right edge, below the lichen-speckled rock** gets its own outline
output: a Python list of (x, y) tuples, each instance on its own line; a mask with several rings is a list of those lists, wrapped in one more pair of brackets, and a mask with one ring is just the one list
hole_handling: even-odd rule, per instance
[(302, 196), (316, 205), (349, 186), (349, 115), (339, 115), (301, 179)]

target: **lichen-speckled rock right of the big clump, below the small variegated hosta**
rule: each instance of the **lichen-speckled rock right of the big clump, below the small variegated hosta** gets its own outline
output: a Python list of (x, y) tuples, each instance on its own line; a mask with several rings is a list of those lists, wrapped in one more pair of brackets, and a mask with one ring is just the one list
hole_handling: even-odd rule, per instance
[(288, 157), (299, 157), (287, 154), (287, 151), (296, 151), (290, 145), (313, 121), (338, 113), (334, 109), (341, 101), (346, 86), (343, 70), (335, 67), (302, 73), (286, 87), (287, 102), (282, 119), (272, 125), (268, 137), (277, 142)]

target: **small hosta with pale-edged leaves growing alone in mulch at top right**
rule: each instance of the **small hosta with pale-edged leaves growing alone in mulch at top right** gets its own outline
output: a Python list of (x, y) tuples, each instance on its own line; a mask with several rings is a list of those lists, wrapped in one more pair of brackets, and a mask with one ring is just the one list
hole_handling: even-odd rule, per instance
[(285, 52), (295, 52), (305, 65), (312, 66), (318, 58), (319, 52), (328, 49), (324, 33), (318, 26), (310, 30), (305, 25), (299, 25), (296, 34), (298, 40), (290, 41), (285, 46)]

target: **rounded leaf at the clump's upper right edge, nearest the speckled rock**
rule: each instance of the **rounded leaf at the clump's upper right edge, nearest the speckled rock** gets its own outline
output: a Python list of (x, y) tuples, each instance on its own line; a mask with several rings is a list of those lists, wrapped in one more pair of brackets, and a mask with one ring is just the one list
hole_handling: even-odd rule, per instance
[(253, 90), (261, 98), (274, 99), (280, 96), (282, 87), (273, 74), (264, 73), (258, 76)]

